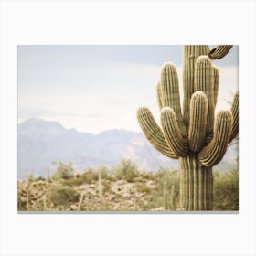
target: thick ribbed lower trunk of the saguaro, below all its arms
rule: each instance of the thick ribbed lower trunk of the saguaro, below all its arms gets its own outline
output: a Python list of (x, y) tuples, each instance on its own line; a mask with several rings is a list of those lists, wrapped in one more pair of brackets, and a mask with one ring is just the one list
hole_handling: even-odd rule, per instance
[(195, 154), (179, 158), (180, 208), (212, 210), (212, 167), (201, 165)]

